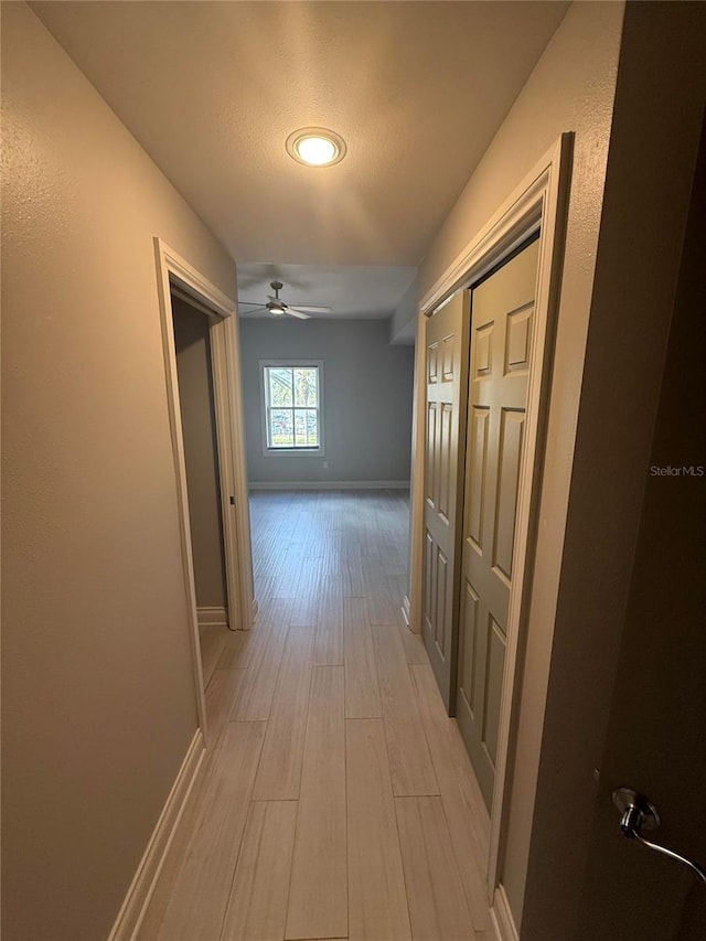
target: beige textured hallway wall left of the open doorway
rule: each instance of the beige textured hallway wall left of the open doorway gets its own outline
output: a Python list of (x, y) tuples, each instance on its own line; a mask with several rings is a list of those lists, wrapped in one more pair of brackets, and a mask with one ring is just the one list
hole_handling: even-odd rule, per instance
[(152, 237), (234, 265), (2, 4), (3, 937), (107, 937), (196, 728)]

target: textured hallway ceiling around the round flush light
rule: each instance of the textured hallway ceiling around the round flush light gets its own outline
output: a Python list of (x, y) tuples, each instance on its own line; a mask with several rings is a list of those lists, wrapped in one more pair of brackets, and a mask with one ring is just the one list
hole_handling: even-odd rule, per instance
[[(238, 263), (397, 268), (424, 256), (568, 4), (31, 6)], [(286, 153), (311, 125), (344, 137), (341, 163)]]

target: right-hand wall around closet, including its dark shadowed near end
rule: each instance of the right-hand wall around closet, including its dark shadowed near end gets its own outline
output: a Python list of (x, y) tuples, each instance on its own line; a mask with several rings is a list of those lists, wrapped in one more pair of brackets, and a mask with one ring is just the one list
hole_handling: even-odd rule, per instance
[(559, 133), (574, 131), (501, 866), (523, 941), (575, 937), (598, 780), (606, 788), (610, 695), (706, 100), (704, 35), (704, 4), (574, 3), (420, 269), (424, 297)]

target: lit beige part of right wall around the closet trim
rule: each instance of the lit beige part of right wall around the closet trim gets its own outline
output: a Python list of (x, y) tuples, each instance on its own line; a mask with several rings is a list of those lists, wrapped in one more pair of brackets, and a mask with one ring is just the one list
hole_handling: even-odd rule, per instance
[(568, 10), (420, 269), (420, 295), (424, 296), (559, 135), (574, 131), (535, 590), (517, 741), (520, 757), (512, 783), (505, 863), (501, 868), (517, 924), (522, 921), (563, 521), (570, 482), (622, 17), (622, 3), (576, 3)]

